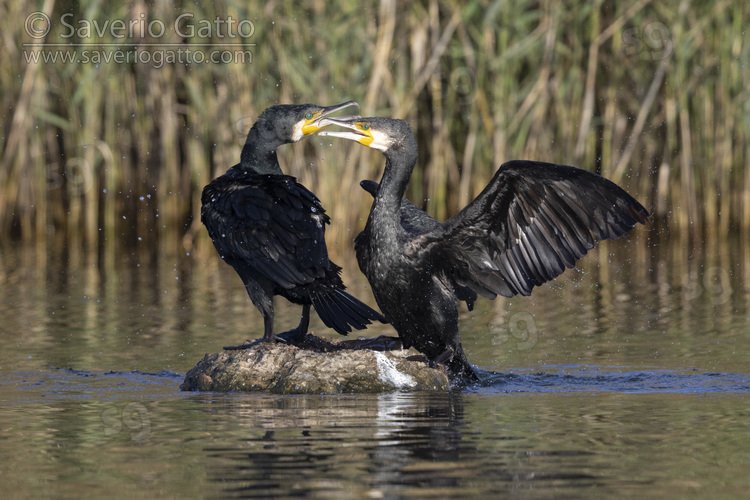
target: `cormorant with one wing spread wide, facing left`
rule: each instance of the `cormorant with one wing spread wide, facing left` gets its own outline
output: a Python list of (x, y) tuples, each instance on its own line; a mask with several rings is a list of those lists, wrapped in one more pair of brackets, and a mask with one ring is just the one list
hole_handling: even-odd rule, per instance
[(355, 239), (357, 261), (404, 346), (445, 362), (454, 376), (477, 378), (458, 332), (461, 290), (488, 299), (529, 295), (572, 268), (596, 240), (622, 236), (648, 217), (629, 194), (594, 173), (509, 161), (464, 209), (434, 225), (402, 201), (417, 162), (408, 123), (354, 117), (321, 124), (349, 129), (321, 135), (353, 140), (385, 156), (367, 224)]

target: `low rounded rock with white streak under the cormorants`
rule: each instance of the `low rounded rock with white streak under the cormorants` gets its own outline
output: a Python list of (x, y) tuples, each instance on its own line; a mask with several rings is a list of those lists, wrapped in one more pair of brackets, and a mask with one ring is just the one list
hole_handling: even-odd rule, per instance
[[(352, 341), (348, 342), (348, 347)], [(183, 391), (267, 391), (275, 394), (446, 390), (445, 370), (405, 350), (352, 349), (308, 335), (305, 345), (258, 342), (206, 354), (185, 376)]]

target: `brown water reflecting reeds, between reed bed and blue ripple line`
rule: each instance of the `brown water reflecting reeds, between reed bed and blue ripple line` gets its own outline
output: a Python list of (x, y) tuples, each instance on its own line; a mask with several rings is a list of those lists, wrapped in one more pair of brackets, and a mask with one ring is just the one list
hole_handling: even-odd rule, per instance
[[(740, 238), (694, 245), (649, 224), (599, 245), (574, 270), (531, 297), (462, 306), (470, 360), (489, 370), (535, 364), (655, 366), (744, 371), (750, 358), (748, 283)], [(333, 259), (362, 300), (375, 305), (350, 241), (330, 241)], [(204, 352), (261, 335), (262, 320), (239, 278), (204, 231), (186, 246), (165, 233), (157, 245), (50, 238), (6, 244), (0, 258), (3, 342), (8, 363), (78, 369), (174, 370)], [(277, 299), (277, 330), (299, 307)], [(328, 332), (313, 316), (312, 329)], [(391, 334), (373, 325), (365, 335)], [(158, 349), (163, 357), (149, 353)], [(732, 369), (732, 367), (734, 367)]]

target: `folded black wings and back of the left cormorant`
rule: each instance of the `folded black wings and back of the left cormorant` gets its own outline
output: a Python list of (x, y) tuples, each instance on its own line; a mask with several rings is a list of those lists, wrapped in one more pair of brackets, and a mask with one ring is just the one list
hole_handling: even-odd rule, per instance
[(201, 221), (228, 263), (284, 288), (311, 283), (330, 270), (330, 218), (294, 177), (230, 170), (204, 188), (201, 203)]

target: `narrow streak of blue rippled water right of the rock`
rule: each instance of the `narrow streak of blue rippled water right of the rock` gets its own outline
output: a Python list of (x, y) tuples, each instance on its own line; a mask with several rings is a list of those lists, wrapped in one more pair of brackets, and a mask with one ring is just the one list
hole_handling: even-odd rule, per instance
[(746, 393), (750, 374), (699, 370), (628, 370), (599, 366), (548, 366), (512, 372), (478, 370), (481, 381), (464, 389), (480, 393)]

